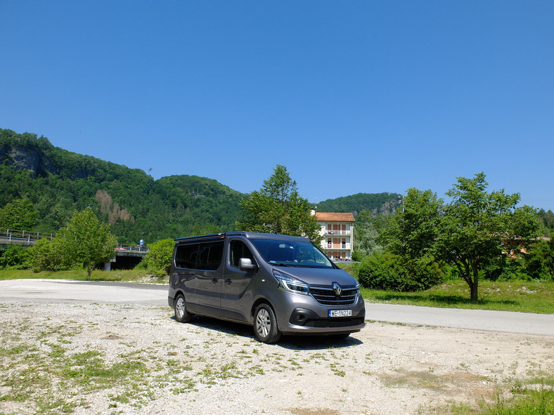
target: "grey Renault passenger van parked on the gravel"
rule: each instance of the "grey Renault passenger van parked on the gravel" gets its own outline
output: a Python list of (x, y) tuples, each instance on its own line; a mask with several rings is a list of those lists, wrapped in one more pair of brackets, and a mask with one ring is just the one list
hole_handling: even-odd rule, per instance
[(194, 315), (251, 324), (259, 341), (281, 334), (340, 337), (365, 326), (356, 279), (309, 239), (253, 232), (175, 239), (167, 301)]

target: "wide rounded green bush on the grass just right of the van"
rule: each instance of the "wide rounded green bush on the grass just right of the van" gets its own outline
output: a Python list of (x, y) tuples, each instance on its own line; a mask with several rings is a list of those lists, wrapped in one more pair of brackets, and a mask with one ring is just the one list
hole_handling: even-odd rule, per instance
[(444, 281), (442, 268), (430, 258), (406, 261), (393, 253), (372, 253), (358, 268), (361, 286), (385, 291), (420, 291)]

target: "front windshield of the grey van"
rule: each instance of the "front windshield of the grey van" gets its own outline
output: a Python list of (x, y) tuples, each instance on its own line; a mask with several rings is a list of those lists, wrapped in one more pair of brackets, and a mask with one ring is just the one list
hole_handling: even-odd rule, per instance
[(288, 267), (334, 268), (329, 258), (309, 242), (251, 239), (267, 263)]

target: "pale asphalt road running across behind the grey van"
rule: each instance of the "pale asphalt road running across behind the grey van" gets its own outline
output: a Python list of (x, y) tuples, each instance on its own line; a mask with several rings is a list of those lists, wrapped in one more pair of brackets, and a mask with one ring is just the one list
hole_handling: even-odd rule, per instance
[[(0, 302), (166, 305), (167, 286), (53, 279), (0, 281)], [(366, 303), (366, 319), (456, 329), (554, 336), (554, 315)]]

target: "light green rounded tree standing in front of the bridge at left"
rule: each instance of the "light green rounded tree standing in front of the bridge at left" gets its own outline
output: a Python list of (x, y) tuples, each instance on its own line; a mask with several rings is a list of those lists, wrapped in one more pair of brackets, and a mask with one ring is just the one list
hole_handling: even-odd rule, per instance
[(90, 208), (74, 211), (67, 227), (60, 228), (53, 243), (66, 261), (82, 263), (90, 281), (95, 263), (109, 261), (117, 241), (110, 225), (101, 223)]

